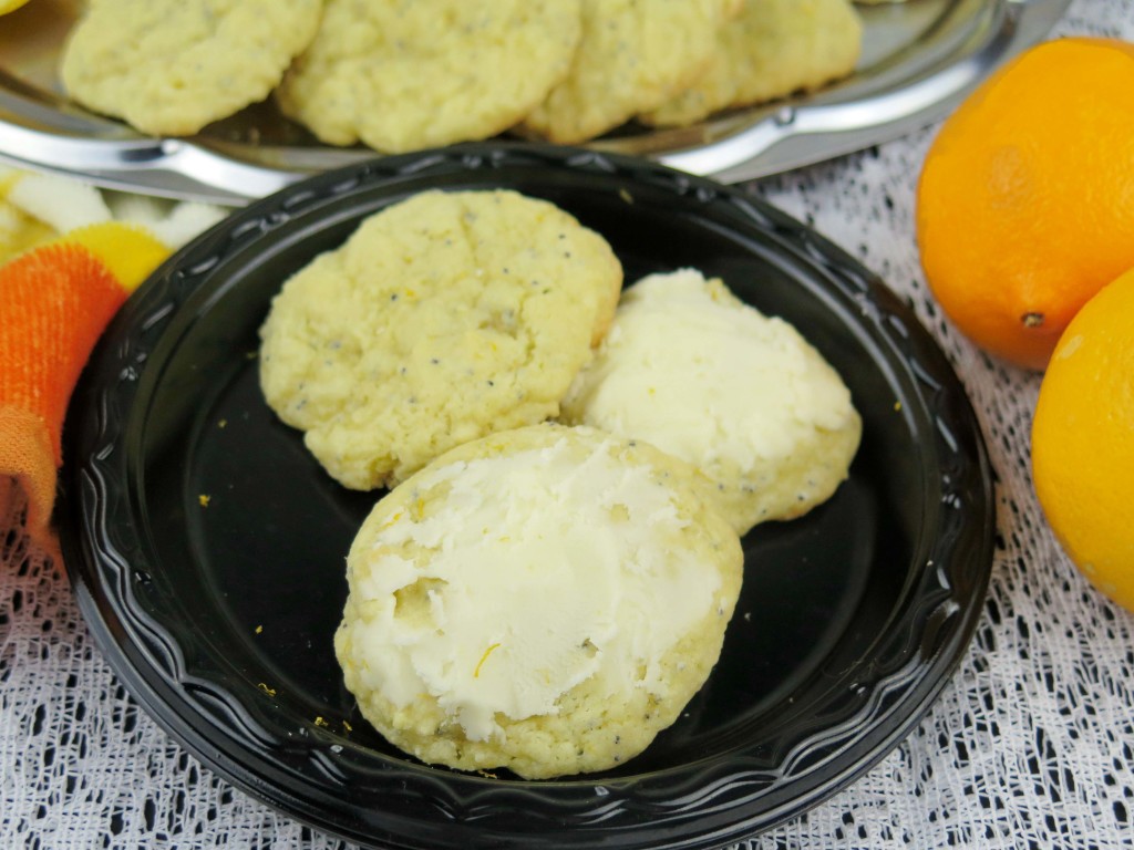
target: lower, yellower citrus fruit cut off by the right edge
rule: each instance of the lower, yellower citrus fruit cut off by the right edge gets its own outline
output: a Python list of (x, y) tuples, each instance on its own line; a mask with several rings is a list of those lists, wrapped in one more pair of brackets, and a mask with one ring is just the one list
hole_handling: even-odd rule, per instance
[(1056, 538), (1134, 611), (1134, 270), (1072, 320), (1040, 383), (1032, 479)]

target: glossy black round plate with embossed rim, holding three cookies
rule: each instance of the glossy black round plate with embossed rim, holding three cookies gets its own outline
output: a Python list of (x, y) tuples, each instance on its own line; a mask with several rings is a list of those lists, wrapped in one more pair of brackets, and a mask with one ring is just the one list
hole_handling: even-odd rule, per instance
[[(342, 688), (348, 492), (265, 406), (256, 331), (284, 279), (426, 188), (508, 187), (603, 233), (627, 281), (695, 266), (793, 322), (863, 415), (850, 478), (745, 538), (720, 663), (620, 770), (462, 774), (389, 747)], [(83, 612), (129, 691), (236, 785), (381, 848), (709, 848), (860, 776), (964, 653), (992, 553), (991, 473), (962, 386), (849, 256), (737, 190), (641, 160), (483, 144), (352, 165), (257, 202), (160, 269), (73, 399), (61, 522)]]

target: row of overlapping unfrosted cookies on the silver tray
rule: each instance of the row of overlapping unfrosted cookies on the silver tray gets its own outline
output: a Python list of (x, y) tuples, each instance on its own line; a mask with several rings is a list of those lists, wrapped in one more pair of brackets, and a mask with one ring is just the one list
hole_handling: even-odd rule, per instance
[(577, 144), (816, 88), (861, 35), (850, 0), (92, 0), (61, 77), (154, 135), (274, 96), (332, 145)]

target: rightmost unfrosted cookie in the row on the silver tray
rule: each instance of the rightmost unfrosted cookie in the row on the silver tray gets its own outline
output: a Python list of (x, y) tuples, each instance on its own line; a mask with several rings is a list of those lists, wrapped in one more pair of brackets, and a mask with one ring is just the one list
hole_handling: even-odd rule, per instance
[(858, 61), (862, 22), (848, 0), (752, 0), (719, 39), (708, 71), (640, 116), (643, 124), (688, 125), (845, 77)]

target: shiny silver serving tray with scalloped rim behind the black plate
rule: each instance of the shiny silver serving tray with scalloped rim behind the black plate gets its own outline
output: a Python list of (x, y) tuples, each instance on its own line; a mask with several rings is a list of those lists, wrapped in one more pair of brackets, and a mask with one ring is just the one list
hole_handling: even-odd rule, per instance
[[(373, 158), (319, 143), (271, 100), (192, 138), (143, 136), (70, 103), (59, 54), (81, 0), (33, 0), (0, 17), (0, 160), (108, 188), (243, 204)], [(862, 150), (946, 114), (996, 66), (1043, 39), (1069, 0), (908, 0), (860, 6), (863, 53), (849, 78), (809, 96), (693, 127), (628, 126), (589, 146), (649, 156), (723, 182)]]

